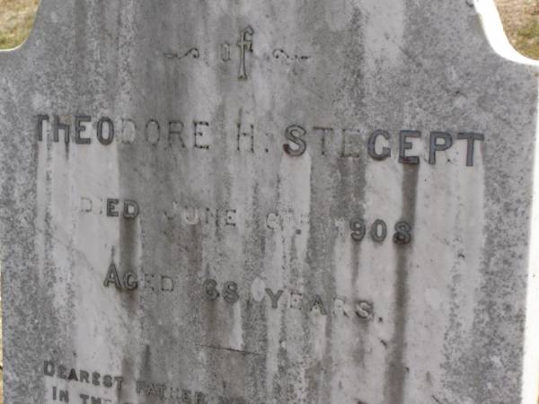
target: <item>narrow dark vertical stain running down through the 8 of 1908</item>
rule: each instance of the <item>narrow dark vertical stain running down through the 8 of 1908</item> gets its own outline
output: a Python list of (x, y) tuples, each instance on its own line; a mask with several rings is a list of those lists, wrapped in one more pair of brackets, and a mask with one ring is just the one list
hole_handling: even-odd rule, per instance
[[(404, 165), (402, 168), (402, 220), (415, 224), (415, 211), (417, 199), (417, 185), (420, 171), (419, 165)], [(413, 242), (413, 238), (412, 238)], [(396, 245), (396, 276), (394, 283), (394, 331), (392, 338), (392, 350), (388, 358), (384, 382), (384, 402), (391, 404), (403, 404), (404, 385), (407, 366), (404, 364), (406, 349), (406, 317), (408, 315), (408, 301), (410, 291), (408, 289), (408, 268), (410, 254), (409, 245), (406, 248)]]

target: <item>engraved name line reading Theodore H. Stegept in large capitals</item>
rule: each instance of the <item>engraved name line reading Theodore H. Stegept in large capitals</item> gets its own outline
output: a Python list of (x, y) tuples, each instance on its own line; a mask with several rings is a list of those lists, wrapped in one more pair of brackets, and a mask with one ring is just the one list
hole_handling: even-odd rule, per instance
[[(244, 44), (245, 45), (245, 44)], [(245, 45), (246, 46), (246, 45)], [(245, 73), (246, 74), (246, 73)], [(59, 143), (63, 137), (65, 143), (75, 145), (109, 146), (116, 139), (122, 145), (131, 145), (137, 141), (147, 145), (164, 145), (175, 149), (175, 153), (190, 151), (211, 152), (224, 142), (239, 153), (270, 155), (280, 148), (290, 157), (311, 156), (334, 157), (340, 159), (370, 158), (384, 162), (394, 158), (402, 164), (419, 164), (421, 160), (435, 165), (444, 155), (446, 162), (453, 162), (455, 144), (464, 145), (465, 155), (459, 157), (460, 163), (473, 167), (478, 156), (478, 145), (485, 141), (479, 132), (432, 130), (427, 134), (420, 130), (385, 129), (362, 130), (351, 127), (331, 127), (321, 125), (283, 125), (270, 127), (274, 122), (257, 123), (242, 121), (243, 108), (239, 108), (240, 118), (224, 127), (214, 127), (209, 119), (192, 119), (185, 124), (182, 119), (165, 121), (150, 119), (111, 119), (101, 117), (93, 119), (87, 115), (54, 115), (51, 121), (48, 114), (36, 116), (34, 124), (39, 142)], [(118, 130), (117, 130), (118, 128)], [(217, 134), (225, 136), (217, 136)], [(284, 143), (278, 145), (273, 133), (281, 133)], [(222, 144), (221, 144), (222, 145)]]

